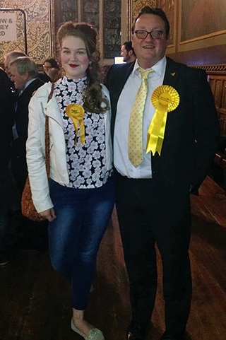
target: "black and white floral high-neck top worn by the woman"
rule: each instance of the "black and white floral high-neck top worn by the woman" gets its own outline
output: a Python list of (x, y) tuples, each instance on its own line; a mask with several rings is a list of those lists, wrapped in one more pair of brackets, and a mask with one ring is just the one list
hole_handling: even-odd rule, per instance
[(66, 115), (68, 105), (73, 103), (83, 105), (83, 90), (86, 86), (86, 76), (78, 80), (64, 76), (54, 86), (54, 95), (64, 124), (66, 161), (69, 171), (67, 187), (80, 189), (101, 187), (111, 175), (111, 171), (107, 170), (106, 166), (105, 113), (85, 112), (83, 116), (85, 144), (81, 143), (79, 124), (78, 136), (76, 136), (73, 121)]

